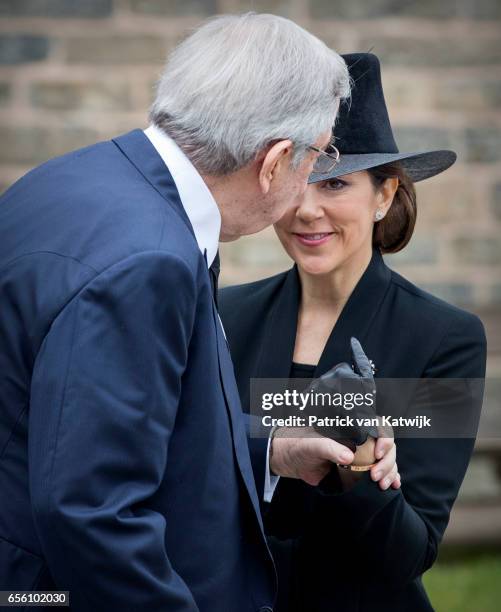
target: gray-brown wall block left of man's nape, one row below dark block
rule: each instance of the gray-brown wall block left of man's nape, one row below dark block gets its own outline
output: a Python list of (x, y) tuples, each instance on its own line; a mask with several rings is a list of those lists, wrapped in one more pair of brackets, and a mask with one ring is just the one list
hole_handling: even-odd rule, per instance
[(31, 86), (34, 106), (53, 110), (130, 110), (129, 85), (123, 81), (38, 82)]

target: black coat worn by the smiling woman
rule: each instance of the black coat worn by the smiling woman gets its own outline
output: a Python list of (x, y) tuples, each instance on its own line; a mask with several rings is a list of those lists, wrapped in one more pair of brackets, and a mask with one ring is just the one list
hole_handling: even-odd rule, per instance
[[(293, 267), (220, 292), (244, 410), (249, 379), (287, 378), (300, 281)], [(327, 341), (315, 376), (351, 361), (356, 336), (385, 378), (483, 378), (480, 320), (390, 270), (378, 252)], [(369, 474), (342, 492), (282, 478), (265, 510), (281, 581), (277, 612), (432, 610), (421, 584), (431, 567), (473, 450), (473, 439), (400, 439), (402, 488)]]

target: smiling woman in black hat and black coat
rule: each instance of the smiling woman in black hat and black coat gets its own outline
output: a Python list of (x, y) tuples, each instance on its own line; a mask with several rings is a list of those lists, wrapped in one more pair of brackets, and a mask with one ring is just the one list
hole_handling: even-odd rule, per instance
[[(350, 362), (352, 336), (376, 380), (485, 374), (479, 319), (412, 285), (381, 256), (411, 238), (413, 181), (456, 156), (398, 153), (377, 58), (345, 60), (354, 87), (336, 127), (340, 162), (312, 175), (304, 201), (275, 225), (294, 267), (220, 293), (244, 410), (250, 378), (318, 377)], [(265, 515), (277, 612), (432, 610), (421, 575), (436, 559), (473, 444), (397, 440), (401, 488), (383, 491), (368, 472), (340, 478), (337, 468), (318, 487), (282, 478)]]

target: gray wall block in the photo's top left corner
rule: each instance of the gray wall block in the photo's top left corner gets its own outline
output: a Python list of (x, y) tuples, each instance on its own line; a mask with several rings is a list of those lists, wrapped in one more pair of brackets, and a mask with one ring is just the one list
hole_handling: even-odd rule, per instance
[(1, 0), (0, 16), (107, 17), (112, 0)]

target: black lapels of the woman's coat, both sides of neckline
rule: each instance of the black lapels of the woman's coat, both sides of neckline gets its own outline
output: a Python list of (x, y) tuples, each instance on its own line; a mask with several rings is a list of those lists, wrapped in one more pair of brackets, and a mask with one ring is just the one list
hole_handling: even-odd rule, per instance
[[(379, 251), (355, 286), (334, 326), (318, 362), (315, 376), (321, 376), (341, 361), (351, 363), (350, 338), (362, 346), (371, 324), (390, 286), (391, 272)], [(257, 378), (288, 378), (294, 355), (296, 329), (301, 299), (297, 266), (291, 268), (270, 312), (258, 357)]]

